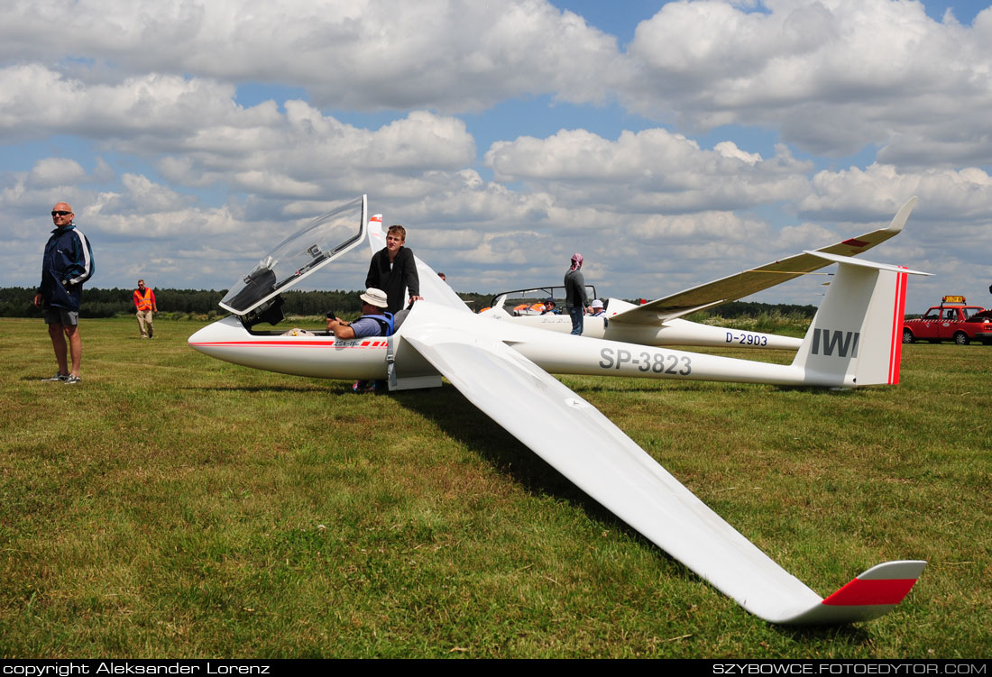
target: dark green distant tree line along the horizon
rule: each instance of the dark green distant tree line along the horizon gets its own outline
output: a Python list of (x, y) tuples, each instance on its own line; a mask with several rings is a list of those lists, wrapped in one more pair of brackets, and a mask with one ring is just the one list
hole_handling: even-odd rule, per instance
[[(0, 317), (41, 317), (42, 312), (34, 306), (34, 287), (7, 286), (0, 287)], [(82, 292), (82, 305), (79, 315), (82, 317), (116, 317), (129, 315), (134, 312), (132, 294), (134, 289), (101, 289), (87, 288)], [(155, 299), (159, 310), (166, 316), (173, 317), (211, 317), (227, 314), (217, 302), (227, 293), (226, 289), (155, 289)], [(323, 315), (328, 310), (335, 314), (357, 315), (361, 312), (358, 291), (286, 291), (283, 293), (285, 303), (283, 312), (287, 315)], [(489, 304), (492, 294), (466, 292), (459, 293), (468, 306), (473, 310), (481, 310)], [(637, 303), (636, 300), (631, 300)], [(733, 301), (709, 308), (702, 312), (704, 317), (719, 315), (720, 317), (757, 317), (763, 314), (778, 313), (780, 315), (810, 318), (816, 312), (814, 305), (795, 305), (789, 303), (755, 303), (750, 301)]]

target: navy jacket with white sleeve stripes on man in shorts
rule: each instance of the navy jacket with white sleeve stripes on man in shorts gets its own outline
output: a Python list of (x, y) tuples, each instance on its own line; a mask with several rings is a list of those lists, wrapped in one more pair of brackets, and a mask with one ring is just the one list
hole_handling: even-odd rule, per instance
[(78, 310), (82, 283), (93, 276), (93, 250), (74, 223), (52, 231), (42, 261), (43, 307)]

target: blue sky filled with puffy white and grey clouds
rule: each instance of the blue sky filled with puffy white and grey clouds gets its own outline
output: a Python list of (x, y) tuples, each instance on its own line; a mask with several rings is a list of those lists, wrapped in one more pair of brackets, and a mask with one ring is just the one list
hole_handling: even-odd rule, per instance
[[(653, 298), (885, 226), (992, 305), (992, 9), (927, 0), (12, 0), (0, 285), (227, 288), (336, 201), (459, 291)], [(307, 288), (357, 289), (369, 250)], [(752, 297), (818, 303), (823, 276)], [(168, 308), (164, 308), (168, 309)]]

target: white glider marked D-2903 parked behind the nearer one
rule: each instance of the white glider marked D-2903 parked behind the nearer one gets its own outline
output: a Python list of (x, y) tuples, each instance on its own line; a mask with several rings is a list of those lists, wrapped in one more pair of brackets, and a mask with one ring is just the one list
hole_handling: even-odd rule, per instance
[[(792, 336), (716, 327), (681, 318), (697, 310), (705, 310), (722, 303), (735, 301), (782, 282), (795, 280), (800, 276), (808, 275), (830, 265), (830, 261), (817, 256), (817, 254), (856, 256), (866, 252), (902, 232), (903, 226), (906, 225), (906, 221), (916, 204), (917, 198), (911, 198), (885, 228), (848, 238), (818, 249), (815, 253), (805, 252), (788, 259), (772, 261), (764, 266), (758, 266), (714, 282), (707, 282), (657, 298), (644, 305), (635, 305), (619, 298), (610, 298), (606, 302), (606, 314), (603, 317), (585, 317), (582, 335), (609, 341), (641, 343), (648, 346), (731, 346), (735, 348), (799, 350), (803, 341)], [(370, 244), (373, 243), (372, 232), (373, 230), (370, 229)], [(375, 251), (375, 249), (381, 249), (383, 246), (380, 245), (376, 248), (373, 245), (373, 249)], [(534, 291), (544, 292), (544, 297), (547, 298), (554, 296), (553, 290), (555, 288), (546, 287), (534, 289)], [(565, 334), (571, 332), (571, 319), (567, 314), (510, 313), (502, 307), (507, 297), (517, 298), (523, 291), (525, 290), (497, 294), (492, 307), (484, 310), (481, 314), (540, 329), (550, 329)], [(516, 308), (514, 309), (516, 310)]]

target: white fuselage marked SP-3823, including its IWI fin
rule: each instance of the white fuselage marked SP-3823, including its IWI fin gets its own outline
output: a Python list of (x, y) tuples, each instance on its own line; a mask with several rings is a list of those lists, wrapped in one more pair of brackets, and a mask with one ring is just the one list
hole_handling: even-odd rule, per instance
[[(828, 255), (822, 255), (828, 256)], [(338, 340), (331, 335), (249, 332), (234, 316), (189, 337), (194, 349), (226, 362), (323, 379), (437, 376), (404, 341), (407, 322), (467, 331), (514, 349), (551, 374), (856, 388), (899, 381), (906, 274), (894, 267), (843, 261), (791, 365), (705, 355), (550, 332), (494, 321), (463, 307), (418, 301), (390, 337)]]

